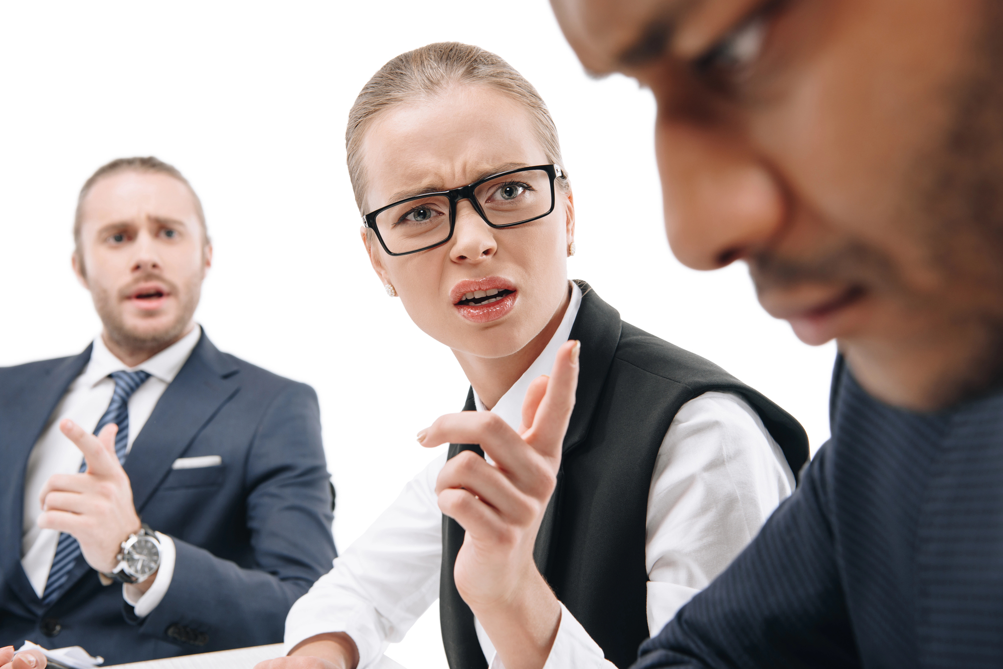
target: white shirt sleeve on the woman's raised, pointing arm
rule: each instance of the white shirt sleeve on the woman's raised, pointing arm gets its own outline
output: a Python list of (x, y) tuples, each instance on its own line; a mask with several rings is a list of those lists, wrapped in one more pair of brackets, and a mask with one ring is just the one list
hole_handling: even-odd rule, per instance
[[(780, 447), (744, 400), (712, 392), (680, 408), (658, 451), (648, 496), (652, 635), (734, 560), (793, 486)], [(562, 604), (544, 669), (613, 666)], [(504, 669), (497, 655), (490, 669)]]

